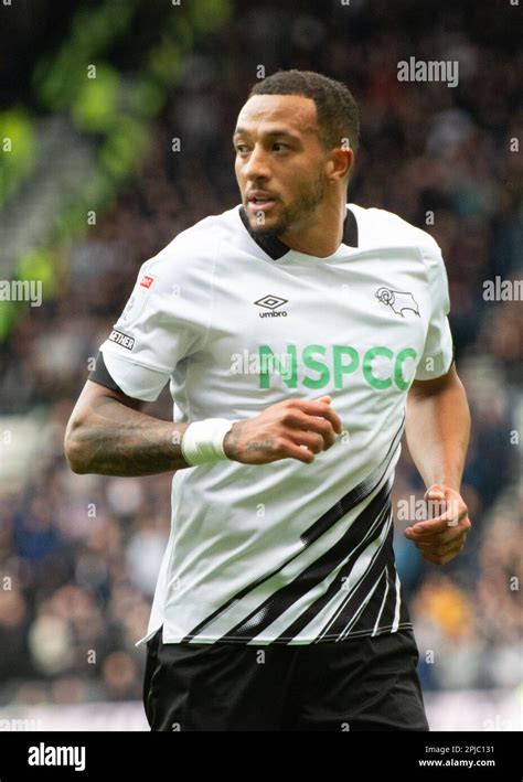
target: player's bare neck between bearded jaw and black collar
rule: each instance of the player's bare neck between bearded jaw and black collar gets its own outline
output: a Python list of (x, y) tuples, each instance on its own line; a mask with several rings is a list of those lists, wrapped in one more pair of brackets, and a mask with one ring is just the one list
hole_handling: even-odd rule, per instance
[(335, 203), (323, 201), (312, 217), (278, 238), (290, 249), (317, 258), (333, 255), (343, 238), (343, 222), (346, 216), (345, 200)]

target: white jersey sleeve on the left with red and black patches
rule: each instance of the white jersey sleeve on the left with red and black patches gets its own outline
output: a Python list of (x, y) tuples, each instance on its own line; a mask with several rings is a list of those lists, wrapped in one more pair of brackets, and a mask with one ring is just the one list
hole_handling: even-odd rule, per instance
[(140, 268), (99, 349), (107, 372), (127, 396), (154, 401), (177, 364), (204, 345), (212, 303), (210, 260), (202, 270), (199, 259), (184, 255), (174, 240)]

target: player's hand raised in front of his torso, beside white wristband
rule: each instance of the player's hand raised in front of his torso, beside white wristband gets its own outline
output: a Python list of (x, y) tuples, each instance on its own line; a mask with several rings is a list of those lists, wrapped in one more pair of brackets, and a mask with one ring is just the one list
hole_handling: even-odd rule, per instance
[(331, 397), (286, 399), (254, 418), (233, 424), (223, 442), (226, 456), (243, 464), (298, 459), (309, 464), (342, 431)]

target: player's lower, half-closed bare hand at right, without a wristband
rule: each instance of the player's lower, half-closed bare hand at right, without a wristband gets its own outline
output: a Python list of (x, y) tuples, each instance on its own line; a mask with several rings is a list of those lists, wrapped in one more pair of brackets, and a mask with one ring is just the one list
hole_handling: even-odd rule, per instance
[(425, 500), (438, 503), (439, 515), (407, 527), (405, 537), (419, 548), (428, 563), (446, 565), (463, 550), (472, 526), (469, 512), (459, 492), (441, 483), (429, 486)]

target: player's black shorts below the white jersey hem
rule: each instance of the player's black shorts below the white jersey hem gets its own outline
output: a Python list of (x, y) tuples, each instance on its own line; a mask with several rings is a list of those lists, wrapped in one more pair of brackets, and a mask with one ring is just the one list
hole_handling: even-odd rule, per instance
[(306, 645), (147, 643), (151, 730), (428, 730), (409, 630)]

